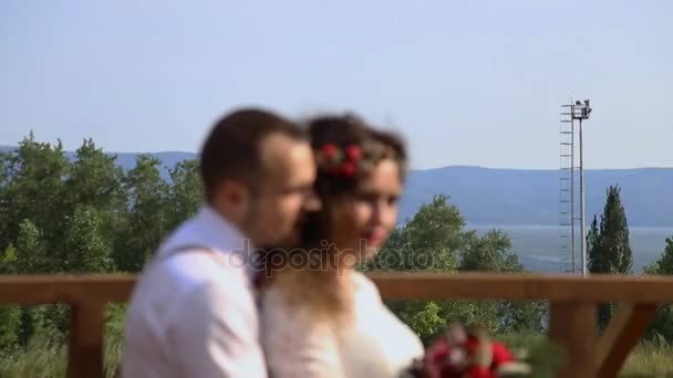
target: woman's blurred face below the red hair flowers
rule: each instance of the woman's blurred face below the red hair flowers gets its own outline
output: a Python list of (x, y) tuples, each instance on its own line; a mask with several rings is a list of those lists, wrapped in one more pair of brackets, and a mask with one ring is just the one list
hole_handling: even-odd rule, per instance
[(345, 211), (334, 214), (338, 219), (333, 224), (341, 223), (342, 231), (348, 229), (340, 232), (348, 235), (348, 241), (343, 240), (348, 246), (341, 248), (355, 249), (358, 259), (371, 259), (395, 227), (401, 195), (400, 166), (392, 159), (382, 160), (361, 180), (349, 206), (342, 208)]

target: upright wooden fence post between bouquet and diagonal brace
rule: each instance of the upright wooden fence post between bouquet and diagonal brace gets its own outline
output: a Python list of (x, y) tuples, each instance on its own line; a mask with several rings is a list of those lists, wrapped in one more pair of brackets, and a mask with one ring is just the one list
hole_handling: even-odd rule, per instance
[(566, 347), (568, 365), (560, 377), (596, 377), (598, 305), (586, 302), (552, 302), (549, 338)]

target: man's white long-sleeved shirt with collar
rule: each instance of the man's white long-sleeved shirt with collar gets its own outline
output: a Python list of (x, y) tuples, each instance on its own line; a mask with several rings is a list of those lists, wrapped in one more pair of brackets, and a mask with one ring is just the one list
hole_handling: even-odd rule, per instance
[(130, 301), (124, 378), (267, 377), (245, 243), (208, 207), (163, 243)]

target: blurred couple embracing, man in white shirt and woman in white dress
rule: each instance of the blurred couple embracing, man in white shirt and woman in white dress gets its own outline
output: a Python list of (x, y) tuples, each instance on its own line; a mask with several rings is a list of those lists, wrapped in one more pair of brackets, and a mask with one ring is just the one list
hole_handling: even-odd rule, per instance
[(423, 346), (354, 265), (396, 223), (405, 162), (354, 117), (225, 116), (200, 153), (207, 204), (134, 290), (123, 377), (400, 376)]

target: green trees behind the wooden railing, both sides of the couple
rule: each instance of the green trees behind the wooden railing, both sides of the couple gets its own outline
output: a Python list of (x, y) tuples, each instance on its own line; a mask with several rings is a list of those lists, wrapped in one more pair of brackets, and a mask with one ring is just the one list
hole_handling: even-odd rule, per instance
[[(149, 155), (124, 171), (114, 155), (84, 140), (69, 157), (61, 143), (39, 143), (31, 134), (18, 149), (0, 155), (0, 274), (139, 272), (161, 240), (203, 203), (198, 164), (166, 167)], [(600, 228), (588, 235), (590, 270), (631, 273), (625, 213), (611, 188)], [(621, 216), (620, 216), (621, 213)], [(620, 218), (621, 217), (621, 218)], [(465, 229), (459, 210), (435, 196), (396, 229), (362, 270), (524, 272), (510, 238)], [(619, 241), (619, 242), (617, 242)], [(673, 241), (648, 272), (673, 274)], [(625, 244), (624, 244), (625, 243)], [(625, 258), (625, 255), (629, 255)], [(390, 307), (424, 340), (459, 321), (491, 333), (540, 332), (546, 303), (495, 301), (405, 301)], [(613, 307), (601, 309), (601, 322)], [(108, 312), (108, 330), (121, 333), (124, 306)], [(0, 307), (0, 354), (40, 336), (62, 343), (68, 307)], [(650, 335), (673, 338), (673, 311), (664, 307)]]

